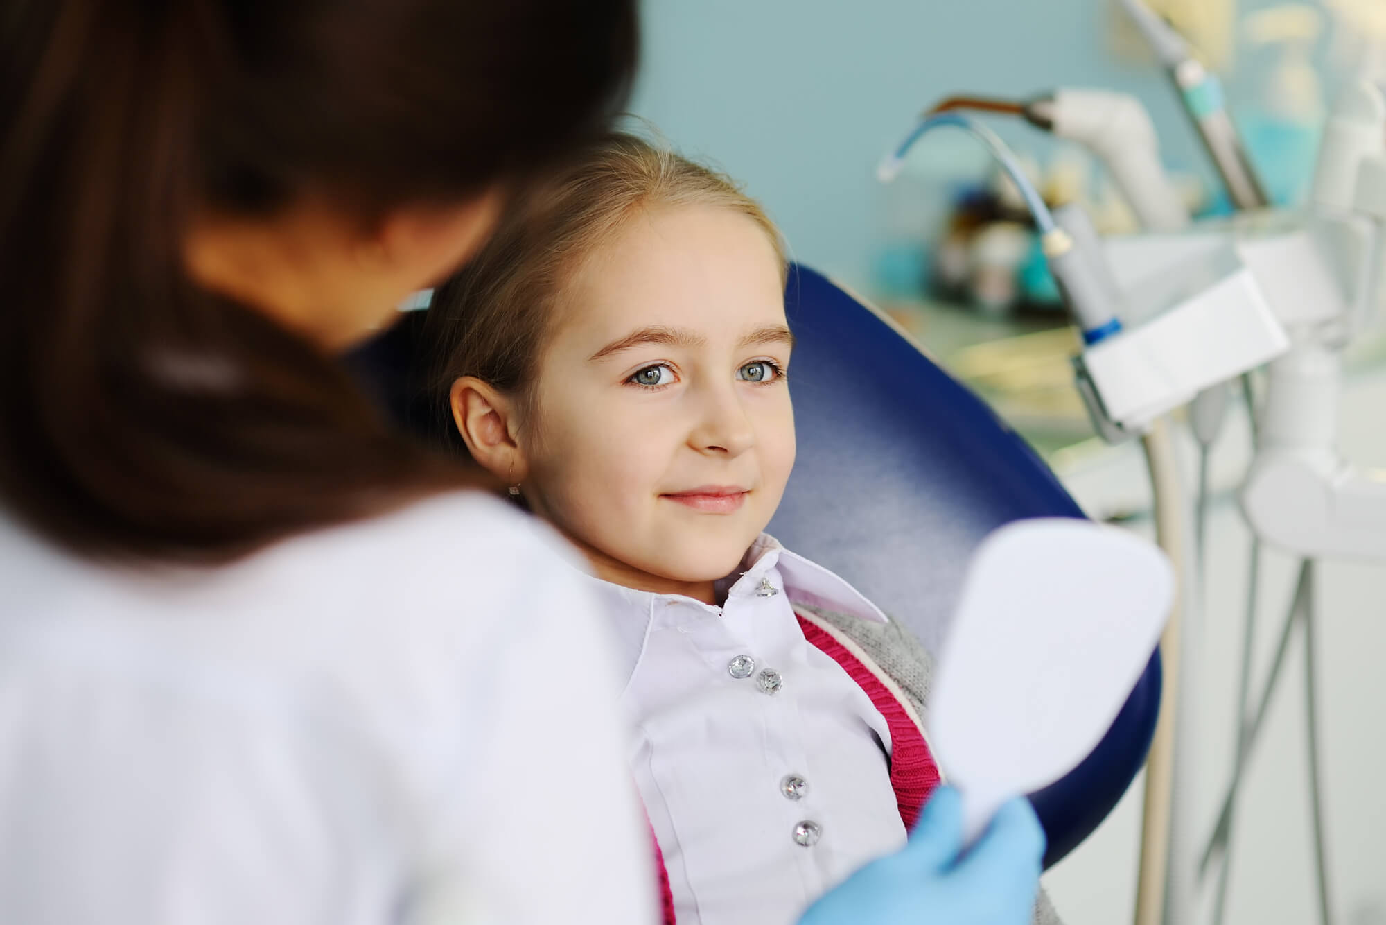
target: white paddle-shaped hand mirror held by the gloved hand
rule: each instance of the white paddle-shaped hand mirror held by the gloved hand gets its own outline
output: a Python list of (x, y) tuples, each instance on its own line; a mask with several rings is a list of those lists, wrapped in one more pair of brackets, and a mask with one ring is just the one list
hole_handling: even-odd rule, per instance
[(969, 845), (1002, 803), (1058, 781), (1102, 741), (1173, 599), (1164, 553), (1113, 527), (1020, 520), (983, 541), (930, 710)]

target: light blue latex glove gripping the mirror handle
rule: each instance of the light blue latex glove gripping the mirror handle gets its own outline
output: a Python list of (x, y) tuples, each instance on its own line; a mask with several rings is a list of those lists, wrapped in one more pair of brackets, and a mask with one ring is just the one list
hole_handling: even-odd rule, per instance
[(898, 853), (872, 861), (814, 903), (800, 925), (1028, 925), (1045, 838), (1015, 799), (962, 851), (962, 797), (938, 788)]

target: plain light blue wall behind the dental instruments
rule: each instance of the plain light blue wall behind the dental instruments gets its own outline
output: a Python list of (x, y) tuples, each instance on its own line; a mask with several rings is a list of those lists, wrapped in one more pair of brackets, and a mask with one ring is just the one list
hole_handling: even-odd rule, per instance
[(948, 93), (1124, 90), (1150, 110), (1167, 162), (1202, 165), (1164, 76), (1109, 53), (1107, 0), (644, 0), (643, 12), (635, 112), (744, 182), (798, 259), (858, 286), (880, 225), (875, 166)]

